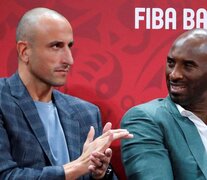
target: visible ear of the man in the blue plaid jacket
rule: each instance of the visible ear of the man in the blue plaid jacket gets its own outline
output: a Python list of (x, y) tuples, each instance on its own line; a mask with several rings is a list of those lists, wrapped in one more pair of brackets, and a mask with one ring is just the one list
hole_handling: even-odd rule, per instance
[(29, 43), (27, 41), (18, 41), (16, 47), (19, 59), (27, 64), (29, 62)]

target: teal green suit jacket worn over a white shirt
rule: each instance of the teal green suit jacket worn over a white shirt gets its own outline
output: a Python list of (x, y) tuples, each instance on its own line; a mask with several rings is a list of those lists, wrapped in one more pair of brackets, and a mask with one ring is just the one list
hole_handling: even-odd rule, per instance
[(128, 179), (207, 179), (207, 154), (197, 128), (169, 97), (133, 107), (121, 126), (134, 134), (122, 141)]

